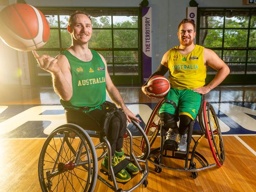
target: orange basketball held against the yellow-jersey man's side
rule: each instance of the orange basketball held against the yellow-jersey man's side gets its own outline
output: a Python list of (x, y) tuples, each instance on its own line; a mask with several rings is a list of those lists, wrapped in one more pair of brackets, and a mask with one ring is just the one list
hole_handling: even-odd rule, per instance
[(150, 93), (154, 93), (157, 98), (164, 97), (170, 90), (170, 83), (167, 78), (161, 75), (153, 76), (148, 82)]

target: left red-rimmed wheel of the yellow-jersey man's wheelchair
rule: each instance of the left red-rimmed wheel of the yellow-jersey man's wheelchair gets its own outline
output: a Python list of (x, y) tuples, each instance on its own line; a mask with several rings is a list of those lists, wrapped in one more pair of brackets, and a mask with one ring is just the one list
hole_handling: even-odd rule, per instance
[[(157, 134), (160, 130), (160, 125), (158, 124), (159, 123), (158, 112), (159, 112), (159, 109), (161, 108), (163, 100), (164, 99), (159, 101), (159, 103), (157, 103), (157, 105), (153, 109), (153, 111), (148, 119), (148, 123), (144, 129), (144, 131), (148, 137), (150, 147), (152, 147), (153, 143), (155, 142), (155, 139), (157, 138)], [(142, 140), (142, 146), (143, 145), (144, 145), (144, 141)]]

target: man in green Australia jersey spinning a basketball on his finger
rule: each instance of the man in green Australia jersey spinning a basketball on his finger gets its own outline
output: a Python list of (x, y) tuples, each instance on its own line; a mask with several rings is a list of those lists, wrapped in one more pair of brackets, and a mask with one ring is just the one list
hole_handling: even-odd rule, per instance
[[(123, 113), (110, 119), (107, 138), (112, 149), (112, 166), (116, 166), (124, 157), (123, 134), (127, 120), (140, 121), (125, 106), (118, 89), (112, 83), (107, 63), (101, 54), (88, 48), (92, 36), (92, 21), (89, 15), (77, 11), (70, 15), (67, 31), (71, 35), (72, 45), (56, 58), (49, 55), (39, 56), (33, 51), (40, 67), (52, 75), (53, 87), (60, 96), (65, 108), (68, 123), (86, 127), (86, 116), (93, 117), (101, 126), (108, 106), (105, 105), (106, 91)], [(90, 122), (89, 122), (90, 123)], [(108, 172), (108, 156), (101, 168)], [(130, 174), (137, 174), (138, 168), (129, 163), (115, 175), (116, 181), (127, 182)]]

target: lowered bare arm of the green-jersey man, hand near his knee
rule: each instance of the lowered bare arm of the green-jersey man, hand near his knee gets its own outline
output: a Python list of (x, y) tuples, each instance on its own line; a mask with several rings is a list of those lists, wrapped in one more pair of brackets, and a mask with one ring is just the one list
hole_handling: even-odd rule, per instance
[(125, 105), (125, 103), (123, 102), (123, 99), (118, 91), (118, 89), (116, 88), (116, 86), (114, 86), (109, 74), (108, 74), (108, 69), (107, 69), (107, 63), (106, 60), (104, 59), (104, 57), (99, 54), (101, 56), (101, 59), (103, 60), (104, 64), (105, 64), (105, 72), (106, 72), (106, 89), (107, 89), (107, 93), (108, 96), (110, 97), (110, 99), (118, 106), (121, 107), (123, 112), (126, 115), (127, 120), (129, 121), (129, 123), (131, 123), (131, 119), (135, 119), (136, 121), (140, 121)]

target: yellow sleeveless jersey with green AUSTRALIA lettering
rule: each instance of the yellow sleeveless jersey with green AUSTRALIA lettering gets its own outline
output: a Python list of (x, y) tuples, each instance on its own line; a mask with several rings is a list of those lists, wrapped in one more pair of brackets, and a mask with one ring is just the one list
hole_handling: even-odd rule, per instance
[(168, 55), (169, 81), (171, 88), (195, 89), (205, 84), (204, 47), (196, 45), (194, 50), (182, 55), (179, 46), (171, 48)]

